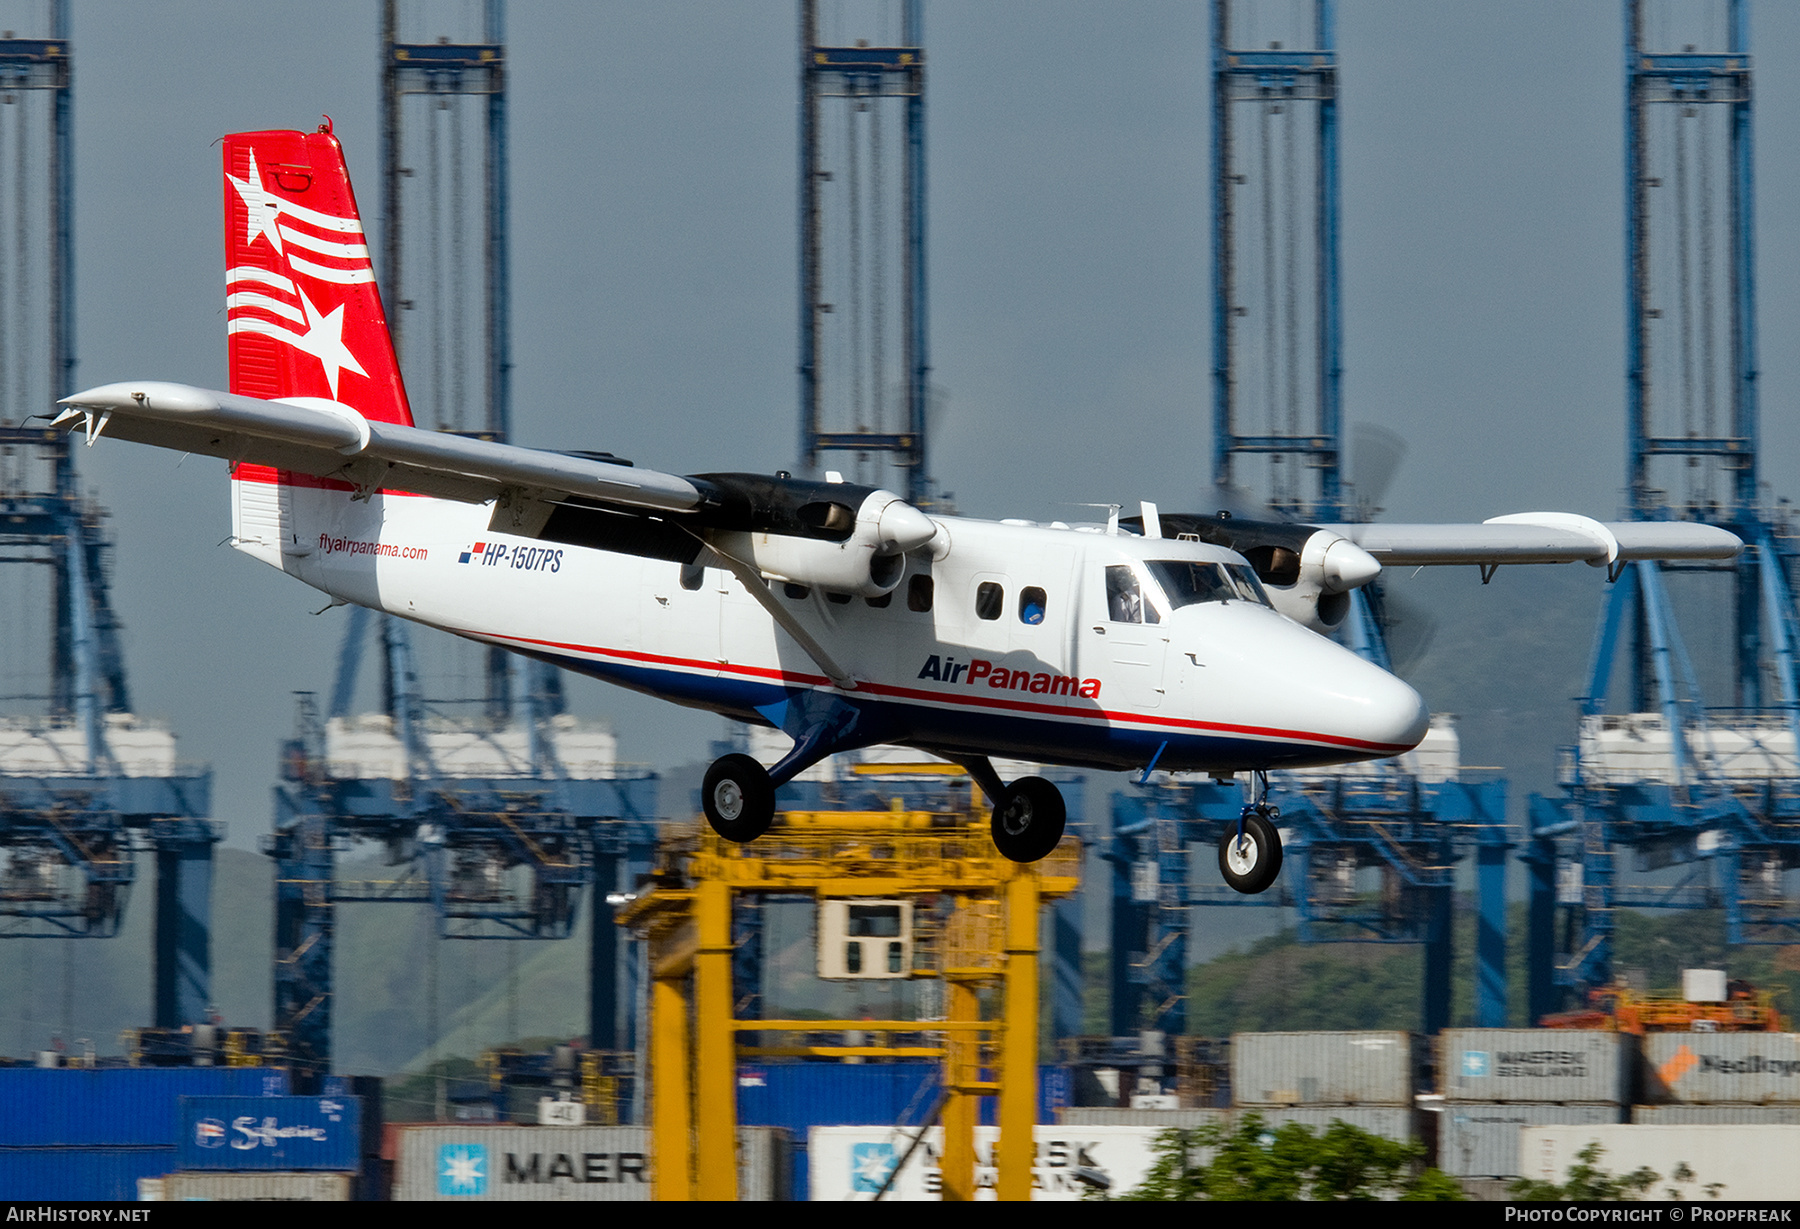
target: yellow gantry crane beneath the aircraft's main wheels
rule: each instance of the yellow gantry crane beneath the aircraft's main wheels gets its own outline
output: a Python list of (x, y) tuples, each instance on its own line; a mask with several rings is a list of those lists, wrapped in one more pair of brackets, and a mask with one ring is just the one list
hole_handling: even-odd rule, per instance
[[(954, 765), (857, 765), (868, 776), (961, 776)], [(896, 801), (898, 806), (898, 801)], [(970, 786), (956, 812), (787, 812), (754, 844), (704, 824), (664, 839), (653, 887), (619, 914), (650, 943), (650, 1125), (655, 1198), (734, 1200), (738, 1058), (936, 1058), (943, 1198), (976, 1197), (979, 1098), (999, 1096), (999, 1198), (1031, 1198), (1040, 907), (1078, 887), (1080, 844), (1008, 862)], [(945, 982), (941, 1020), (738, 1020), (734, 894), (911, 900), (911, 977)], [(923, 907), (922, 907), (923, 905)], [(934, 905), (934, 907), (931, 907)], [(983, 1018), (983, 990), (997, 1013)], [(740, 1045), (740, 1033), (778, 1045)], [(851, 1033), (851, 1038), (844, 1038)], [(823, 1035), (823, 1036), (821, 1036)]]

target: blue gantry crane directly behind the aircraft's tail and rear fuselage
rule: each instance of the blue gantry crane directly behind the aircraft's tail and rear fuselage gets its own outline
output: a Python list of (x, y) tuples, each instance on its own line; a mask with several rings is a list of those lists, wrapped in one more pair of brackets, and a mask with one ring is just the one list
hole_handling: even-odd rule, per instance
[[(414, 414), (437, 430), (504, 441), (504, 5), (484, 0), (473, 41), (405, 41), (389, 0), (382, 65), (382, 288)], [(382, 704), (358, 714), (371, 639)], [(275, 1026), (302, 1062), (329, 1063), (338, 905), (428, 905), (436, 937), (544, 939), (572, 934), (587, 894), (589, 1045), (630, 1049), (634, 970), (619, 959), (608, 898), (650, 864), (655, 776), (621, 767), (610, 732), (565, 713), (554, 668), (517, 669), (504, 650), (475, 650), (484, 682), (472, 720), (459, 716), (457, 696), (428, 696), (437, 680), (427, 682), (418, 650), (405, 621), (356, 606), (326, 711), (301, 696), (265, 844), (277, 867)], [(338, 855), (353, 846), (380, 848), (398, 869), (342, 875)]]

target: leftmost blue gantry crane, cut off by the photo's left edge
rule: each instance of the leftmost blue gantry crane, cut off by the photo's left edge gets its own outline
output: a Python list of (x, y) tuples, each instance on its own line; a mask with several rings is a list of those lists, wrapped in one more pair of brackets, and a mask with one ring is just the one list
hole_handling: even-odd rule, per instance
[(212, 774), (133, 714), (106, 515), (70, 437), (32, 425), (76, 365), (72, 90), (68, 5), (50, 0), (49, 38), (0, 38), (14, 189), (0, 194), (0, 565), (16, 599), (0, 635), (0, 937), (117, 934), (149, 855), (155, 1024), (180, 1027), (211, 1011)]

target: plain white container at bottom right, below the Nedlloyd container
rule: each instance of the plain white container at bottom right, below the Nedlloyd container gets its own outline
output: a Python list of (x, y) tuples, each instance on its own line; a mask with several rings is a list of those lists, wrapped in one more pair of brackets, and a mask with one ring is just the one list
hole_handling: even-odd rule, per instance
[[(1607, 1173), (1654, 1170), (1654, 1198), (1669, 1188), (1676, 1198), (1782, 1200), (1800, 1195), (1800, 1126), (1710, 1125), (1710, 1126), (1521, 1126), (1519, 1166), (1539, 1182), (1568, 1180), (1570, 1166), (1588, 1144), (1600, 1144), (1598, 1166)], [(1676, 1182), (1687, 1166), (1692, 1180)], [(1717, 1186), (1717, 1195), (1706, 1188)], [(1697, 1220), (1697, 1216), (1696, 1216)]]

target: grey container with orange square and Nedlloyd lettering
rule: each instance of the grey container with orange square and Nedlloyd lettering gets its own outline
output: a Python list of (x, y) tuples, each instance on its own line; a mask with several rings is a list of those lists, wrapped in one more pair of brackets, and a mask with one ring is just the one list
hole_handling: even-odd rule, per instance
[(1640, 1072), (1638, 1125), (1800, 1125), (1800, 1033), (1649, 1033)]

